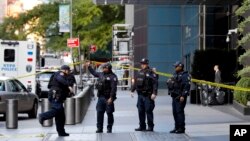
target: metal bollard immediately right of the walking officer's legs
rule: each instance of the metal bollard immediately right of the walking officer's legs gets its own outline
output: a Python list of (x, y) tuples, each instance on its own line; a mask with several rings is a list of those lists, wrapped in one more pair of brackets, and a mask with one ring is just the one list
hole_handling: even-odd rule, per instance
[(65, 100), (65, 124), (75, 124), (75, 98)]

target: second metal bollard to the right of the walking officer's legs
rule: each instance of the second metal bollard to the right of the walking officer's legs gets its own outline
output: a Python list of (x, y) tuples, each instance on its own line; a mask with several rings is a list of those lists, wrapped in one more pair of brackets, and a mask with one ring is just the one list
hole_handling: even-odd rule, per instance
[(82, 109), (83, 109), (83, 101), (82, 97), (75, 98), (75, 123), (81, 123), (82, 121)]

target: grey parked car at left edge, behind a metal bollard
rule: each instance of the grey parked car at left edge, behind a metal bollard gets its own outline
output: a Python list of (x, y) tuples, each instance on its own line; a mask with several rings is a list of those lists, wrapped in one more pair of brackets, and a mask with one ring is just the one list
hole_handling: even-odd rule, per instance
[(29, 118), (36, 118), (38, 109), (38, 96), (31, 93), (17, 79), (0, 77), (0, 114), (5, 114), (6, 100), (18, 100), (18, 113), (27, 113)]

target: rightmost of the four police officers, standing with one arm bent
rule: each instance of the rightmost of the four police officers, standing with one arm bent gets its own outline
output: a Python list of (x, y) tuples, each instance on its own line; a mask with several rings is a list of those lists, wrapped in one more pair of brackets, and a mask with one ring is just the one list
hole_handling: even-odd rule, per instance
[(184, 108), (190, 90), (190, 74), (184, 71), (184, 64), (177, 61), (174, 64), (175, 73), (168, 79), (167, 86), (172, 97), (172, 110), (175, 121), (175, 128), (170, 133), (185, 133), (185, 113)]

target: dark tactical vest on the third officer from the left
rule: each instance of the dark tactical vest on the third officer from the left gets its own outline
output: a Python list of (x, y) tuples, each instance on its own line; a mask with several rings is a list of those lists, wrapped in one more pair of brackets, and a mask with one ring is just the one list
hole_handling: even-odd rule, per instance
[(151, 69), (146, 69), (144, 71), (139, 71), (136, 79), (137, 90), (142, 93), (152, 94), (153, 92), (153, 80), (150, 78), (152, 74)]

